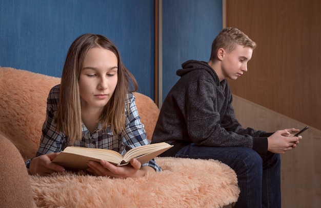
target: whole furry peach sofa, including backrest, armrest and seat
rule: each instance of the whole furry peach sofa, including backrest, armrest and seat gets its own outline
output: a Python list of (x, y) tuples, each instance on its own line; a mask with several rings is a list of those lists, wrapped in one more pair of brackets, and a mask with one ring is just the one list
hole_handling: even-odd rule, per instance
[[(82, 171), (29, 176), (24, 161), (37, 151), (47, 96), (59, 81), (0, 67), (2, 207), (232, 207), (237, 201), (235, 172), (216, 160), (157, 157), (163, 172), (127, 179)], [(147, 96), (134, 95), (151, 140), (159, 110)]]

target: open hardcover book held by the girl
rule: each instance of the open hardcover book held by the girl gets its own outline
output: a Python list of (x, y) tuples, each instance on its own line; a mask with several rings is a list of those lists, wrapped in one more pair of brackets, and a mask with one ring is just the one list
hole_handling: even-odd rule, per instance
[(131, 159), (136, 158), (143, 165), (171, 147), (173, 147), (173, 145), (165, 142), (142, 145), (130, 149), (124, 156), (108, 149), (66, 147), (52, 162), (70, 170), (86, 170), (89, 160), (99, 162), (101, 159), (109, 161), (109, 163), (116, 166), (125, 166), (129, 164)]

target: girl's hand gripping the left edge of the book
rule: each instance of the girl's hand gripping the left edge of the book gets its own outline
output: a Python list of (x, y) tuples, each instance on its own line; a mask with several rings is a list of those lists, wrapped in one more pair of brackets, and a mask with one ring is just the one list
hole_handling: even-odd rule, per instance
[(52, 160), (59, 154), (60, 152), (43, 154), (37, 157), (34, 157), (30, 161), (29, 165), (29, 173), (31, 175), (39, 174), (39, 175), (48, 175), (53, 172), (64, 172), (65, 168), (59, 166), (57, 164), (52, 163)]

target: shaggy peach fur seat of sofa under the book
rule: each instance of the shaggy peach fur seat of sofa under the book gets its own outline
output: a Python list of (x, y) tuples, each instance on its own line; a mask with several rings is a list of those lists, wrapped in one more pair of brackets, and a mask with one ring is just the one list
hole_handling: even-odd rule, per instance
[(237, 200), (236, 175), (217, 160), (156, 158), (163, 172), (115, 179), (70, 172), (30, 176), (39, 207), (217, 208)]

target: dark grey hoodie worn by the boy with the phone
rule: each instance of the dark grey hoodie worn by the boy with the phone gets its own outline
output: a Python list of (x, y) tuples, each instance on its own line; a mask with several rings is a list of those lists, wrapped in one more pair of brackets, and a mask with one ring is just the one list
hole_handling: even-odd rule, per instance
[(242, 128), (235, 118), (227, 80), (219, 82), (206, 62), (189, 60), (182, 67), (176, 72), (180, 79), (160, 109), (152, 143), (174, 144), (173, 154), (188, 143), (242, 146), (266, 154), (271, 133)]

